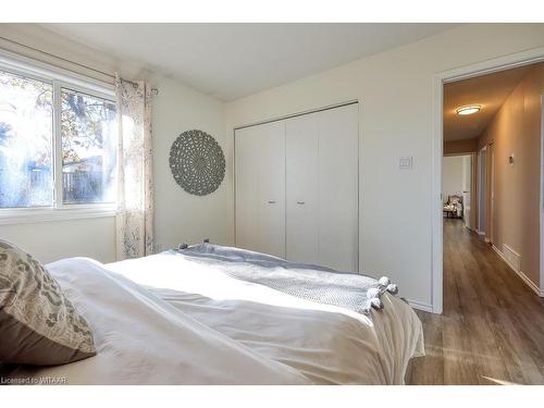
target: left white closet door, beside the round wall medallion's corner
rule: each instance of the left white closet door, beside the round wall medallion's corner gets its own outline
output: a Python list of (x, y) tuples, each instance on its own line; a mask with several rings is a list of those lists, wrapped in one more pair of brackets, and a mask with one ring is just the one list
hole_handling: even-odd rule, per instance
[(285, 258), (285, 123), (236, 131), (236, 245)]

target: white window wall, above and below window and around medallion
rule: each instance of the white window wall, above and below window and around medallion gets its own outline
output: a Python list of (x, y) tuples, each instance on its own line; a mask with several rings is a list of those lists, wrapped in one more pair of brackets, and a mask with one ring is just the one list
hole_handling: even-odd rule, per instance
[[(160, 90), (152, 102), (153, 160), (156, 186), (156, 238), (159, 247), (180, 242), (227, 240), (225, 186), (200, 198), (178, 187), (169, 169), (168, 159), (175, 137), (190, 128), (200, 128), (224, 144), (224, 104), (178, 82), (144, 70), (135, 63), (118, 60), (34, 24), (0, 24), (0, 36), (50, 52), (58, 57), (104, 72), (120, 72), (127, 78), (147, 78)], [(52, 63), (101, 81), (111, 78), (96, 72), (15, 46), (0, 39), (0, 49)], [(0, 225), (0, 239), (15, 243), (42, 262), (85, 256), (102, 262), (115, 260), (115, 220), (113, 217), (33, 224)]]

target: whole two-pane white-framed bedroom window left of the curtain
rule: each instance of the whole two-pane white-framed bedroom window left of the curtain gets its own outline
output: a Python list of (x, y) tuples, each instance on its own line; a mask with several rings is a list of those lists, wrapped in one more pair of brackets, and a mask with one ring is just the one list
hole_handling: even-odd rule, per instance
[(113, 91), (25, 67), (0, 63), (0, 218), (10, 210), (113, 208)]

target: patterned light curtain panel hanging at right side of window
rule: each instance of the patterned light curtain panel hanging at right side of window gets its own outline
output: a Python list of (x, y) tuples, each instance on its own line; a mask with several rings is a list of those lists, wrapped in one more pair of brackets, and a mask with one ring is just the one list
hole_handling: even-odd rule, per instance
[(118, 260), (153, 252), (151, 88), (115, 75), (118, 97)]

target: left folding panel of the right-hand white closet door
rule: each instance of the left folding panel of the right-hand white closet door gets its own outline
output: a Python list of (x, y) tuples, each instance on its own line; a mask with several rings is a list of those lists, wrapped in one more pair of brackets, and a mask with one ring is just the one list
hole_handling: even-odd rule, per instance
[(286, 258), (316, 263), (319, 250), (318, 115), (286, 121)]

